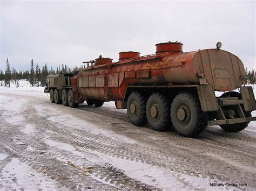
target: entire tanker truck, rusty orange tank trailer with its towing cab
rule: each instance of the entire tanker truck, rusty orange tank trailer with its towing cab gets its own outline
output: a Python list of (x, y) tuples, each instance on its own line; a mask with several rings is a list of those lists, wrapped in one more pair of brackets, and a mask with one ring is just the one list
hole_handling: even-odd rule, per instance
[[(194, 137), (207, 125), (220, 125), (238, 132), (256, 120), (251, 116), (255, 98), (252, 87), (244, 86), (241, 60), (220, 47), (184, 53), (183, 44), (169, 42), (157, 44), (153, 55), (120, 52), (118, 62), (99, 56), (85, 62), (87, 68), (68, 87), (49, 83), (46, 92), (52, 102), (70, 107), (85, 100), (96, 107), (114, 101), (117, 109), (127, 109), (131, 123), (148, 122), (157, 131), (173, 126), (180, 135)], [(216, 97), (214, 91), (226, 93)]]

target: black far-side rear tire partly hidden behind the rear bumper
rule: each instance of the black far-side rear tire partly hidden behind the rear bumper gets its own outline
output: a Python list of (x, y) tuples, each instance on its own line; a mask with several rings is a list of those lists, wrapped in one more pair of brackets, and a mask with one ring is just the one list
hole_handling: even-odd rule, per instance
[[(238, 99), (241, 99), (241, 94), (236, 91), (230, 91), (227, 93), (224, 93), (220, 97), (238, 97)], [(242, 110), (244, 111), (245, 117), (252, 117), (251, 111), (245, 111), (244, 107), (242, 106)], [(221, 129), (227, 132), (239, 132), (244, 130), (250, 122), (244, 122), (244, 123), (235, 123), (235, 124), (225, 124), (220, 125)]]

